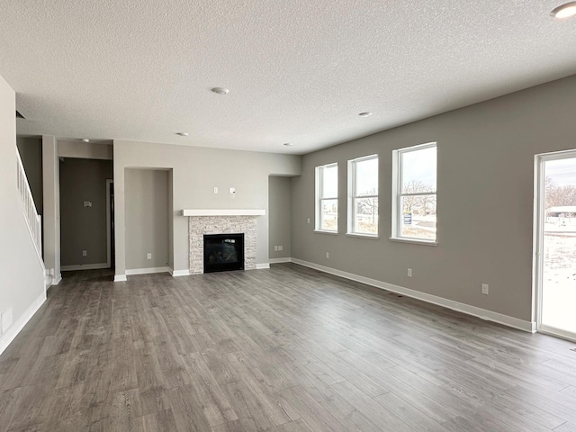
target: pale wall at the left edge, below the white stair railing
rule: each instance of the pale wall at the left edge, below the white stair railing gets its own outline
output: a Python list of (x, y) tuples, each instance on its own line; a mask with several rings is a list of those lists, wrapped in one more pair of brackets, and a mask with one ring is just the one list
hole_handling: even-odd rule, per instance
[(12, 308), (13, 326), (0, 336), (0, 352), (46, 299), (44, 274), (23, 216), (16, 186), (16, 96), (0, 76), (0, 313)]

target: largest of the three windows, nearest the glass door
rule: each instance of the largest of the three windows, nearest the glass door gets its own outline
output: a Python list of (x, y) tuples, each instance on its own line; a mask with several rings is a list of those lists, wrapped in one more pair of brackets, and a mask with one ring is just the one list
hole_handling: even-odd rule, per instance
[(436, 243), (436, 142), (392, 157), (392, 238)]

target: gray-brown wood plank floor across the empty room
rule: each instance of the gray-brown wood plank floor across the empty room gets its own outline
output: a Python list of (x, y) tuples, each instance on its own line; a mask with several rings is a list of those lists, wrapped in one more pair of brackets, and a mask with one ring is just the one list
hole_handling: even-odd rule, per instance
[(0, 430), (574, 432), (572, 348), (295, 265), (76, 272), (0, 356)]

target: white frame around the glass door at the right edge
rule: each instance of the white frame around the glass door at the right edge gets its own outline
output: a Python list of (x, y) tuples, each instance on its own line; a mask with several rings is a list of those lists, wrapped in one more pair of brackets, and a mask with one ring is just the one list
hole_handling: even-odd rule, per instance
[(576, 334), (542, 324), (544, 288), (544, 228), (545, 228), (545, 163), (551, 160), (576, 157), (576, 149), (541, 153), (534, 157), (534, 241), (532, 265), (532, 320), (536, 331), (576, 342)]

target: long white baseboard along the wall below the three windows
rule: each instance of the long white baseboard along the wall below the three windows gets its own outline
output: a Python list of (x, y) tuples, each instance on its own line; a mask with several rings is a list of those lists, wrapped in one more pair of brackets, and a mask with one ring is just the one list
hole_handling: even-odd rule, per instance
[(413, 299), (421, 300), (423, 302), (437, 304), (438, 306), (443, 306), (453, 311), (463, 312), (467, 315), (472, 315), (473, 317), (481, 318), (482, 320), (498, 322), (499, 324), (502, 324), (504, 326), (524, 330), (530, 333), (534, 333), (536, 331), (536, 322), (519, 320), (518, 318), (510, 317), (509, 315), (504, 315), (493, 311), (487, 311), (485, 309), (477, 308), (475, 306), (471, 306), (469, 304), (461, 302), (454, 302), (452, 300), (445, 299), (444, 297), (438, 297), (437, 295), (420, 293), (419, 291), (416, 290), (410, 290), (410, 288), (404, 288), (403, 286), (388, 284), (386, 282), (378, 281), (376, 279), (371, 279), (365, 276), (354, 275), (352, 273), (337, 270), (336, 268), (320, 266), (319, 264), (310, 263), (308, 261), (303, 261), (302, 259), (298, 258), (291, 258), (291, 262), (293, 262), (294, 264), (298, 264), (300, 266), (320, 270), (320, 272), (329, 273), (330, 275), (337, 275), (340, 277), (344, 277), (345, 279), (359, 282), (361, 284), (371, 285), (376, 288), (391, 291), (392, 293), (399, 293), (407, 297), (411, 297)]

